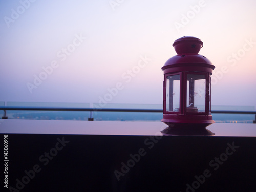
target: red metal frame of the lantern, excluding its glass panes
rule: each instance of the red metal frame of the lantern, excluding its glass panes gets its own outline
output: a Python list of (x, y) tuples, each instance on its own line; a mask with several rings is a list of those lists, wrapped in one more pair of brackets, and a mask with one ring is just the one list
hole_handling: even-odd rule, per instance
[[(170, 58), (166, 61), (165, 65), (162, 67), (164, 71), (164, 82), (163, 82), (163, 119), (162, 122), (168, 124), (170, 127), (198, 127), (205, 128), (206, 126), (214, 123), (211, 116), (211, 77), (212, 70), (215, 68), (214, 65), (203, 55), (199, 55), (201, 47), (203, 46), (203, 42), (191, 36), (185, 36), (180, 39), (177, 39), (173, 46), (175, 47), (176, 52), (178, 53), (176, 56)], [(190, 47), (191, 46), (191, 47)], [(194, 49), (195, 48), (195, 49)], [(179, 109), (174, 111), (174, 103), (172, 103), (172, 111), (166, 110), (166, 103), (169, 99), (169, 103), (173, 102), (173, 97), (166, 98), (167, 91), (167, 78), (173, 75), (180, 75), (179, 77)], [(204, 111), (198, 111), (199, 108), (194, 106), (195, 98), (191, 96), (187, 98), (187, 78), (188, 75), (202, 75), (205, 80), (204, 87)], [(191, 81), (193, 84), (196, 80)], [(172, 86), (174, 86), (174, 80), (172, 81)], [(192, 86), (192, 85), (191, 85)], [(195, 84), (194, 84), (195, 86)], [(171, 86), (170, 86), (171, 87)], [(195, 87), (191, 87), (191, 90), (195, 89)], [(171, 89), (171, 88), (169, 88)], [(172, 87), (172, 89), (174, 89)], [(189, 93), (191, 95), (191, 93)], [(187, 99), (191, 99), (193, 101), (190, 104), (192, 106), (187, 106)], [(189, 100), (188, 100), (189, 103)], [(189, 110), (190, 111), (189, 111)]]

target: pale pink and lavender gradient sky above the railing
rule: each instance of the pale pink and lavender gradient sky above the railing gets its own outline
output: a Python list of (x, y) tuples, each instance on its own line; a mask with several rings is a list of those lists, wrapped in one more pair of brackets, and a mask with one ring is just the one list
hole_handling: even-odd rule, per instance
[(161, 67), (190, 35), (216, 66), (212, 105), (256, 106), (255, 9), (253, 0), (0, 1), (0, 101), (98, 103), (118, 87), (108, 103), (161, 104)]

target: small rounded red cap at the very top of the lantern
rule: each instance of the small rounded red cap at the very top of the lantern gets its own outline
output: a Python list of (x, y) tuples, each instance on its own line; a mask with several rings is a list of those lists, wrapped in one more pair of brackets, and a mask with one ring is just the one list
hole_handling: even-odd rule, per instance
[(178, 55), (184, 55), (185, 53), (198, 54), (203, 47), (203, 42), (193, 36), (183, 36), (175, 40), (173, 46)]

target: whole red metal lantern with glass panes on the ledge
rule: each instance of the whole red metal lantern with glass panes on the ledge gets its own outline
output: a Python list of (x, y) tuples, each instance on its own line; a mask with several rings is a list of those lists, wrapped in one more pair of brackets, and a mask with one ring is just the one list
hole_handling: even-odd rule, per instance
[(210, 113), (210, 75), (215, 66), (199, 55), (203, 42), (192, 36), (177, 39), (177, 52), (166, 61), (163, 84), (163, 119), (170, 127), (205, 128), (214, 123)]

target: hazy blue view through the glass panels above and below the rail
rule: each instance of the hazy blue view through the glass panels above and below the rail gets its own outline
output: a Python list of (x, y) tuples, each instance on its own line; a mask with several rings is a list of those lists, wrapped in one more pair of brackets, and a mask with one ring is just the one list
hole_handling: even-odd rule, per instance
[[(40, 103), (40, 102), (0, 102), (0, 106), (24, 107), (65, 107), (94, 108), (92, 117), (95, 121), (160, 121), (162, 113), (150, 112), (102, 112), (103, 104), (98, 103)], [(161, 104), (105, 104), (103, 108), (115, 109), (162, 109)], [(255, 111), (254, 106), (211, 106), (211, 110)], [(0, 111), (1, 117), (4, 115)], [(216, 123), (253, 123), (253, 114), (211, 114)], [(47, 120), (83, 120), (87, 121), (90, 112), (73, 111), (7, 111), (8, 119), (47, 119)]]

